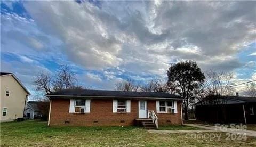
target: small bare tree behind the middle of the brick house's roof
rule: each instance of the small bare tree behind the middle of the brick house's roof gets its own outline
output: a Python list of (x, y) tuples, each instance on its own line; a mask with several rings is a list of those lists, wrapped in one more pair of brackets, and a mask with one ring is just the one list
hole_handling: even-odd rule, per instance
[(140, 91), (140, 84), (132, 79), (122, 80), (115, 84), (117, 91)]

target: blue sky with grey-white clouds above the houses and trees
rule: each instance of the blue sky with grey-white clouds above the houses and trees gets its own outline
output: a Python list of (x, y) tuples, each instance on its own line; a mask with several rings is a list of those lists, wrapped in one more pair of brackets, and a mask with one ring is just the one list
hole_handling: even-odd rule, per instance
[[(2, 1), (1, 71), (34, 93), (33, 76), (69, 64), (79, 82), (166, 78), (171, 63), (256, 79), (254, 1)], [(243, 91), (239, 87), (237, 91)]]

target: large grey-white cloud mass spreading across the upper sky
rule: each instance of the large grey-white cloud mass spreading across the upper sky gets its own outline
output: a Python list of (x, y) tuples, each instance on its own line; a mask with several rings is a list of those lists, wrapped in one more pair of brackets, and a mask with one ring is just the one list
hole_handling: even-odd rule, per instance
[(226, 56), (256, 38), (254, 2), (29, 1), (25, 8), (89, 69), (162, 74), (171, 62), (193, 59), (204, 69), (233, 70), (240, 63)]

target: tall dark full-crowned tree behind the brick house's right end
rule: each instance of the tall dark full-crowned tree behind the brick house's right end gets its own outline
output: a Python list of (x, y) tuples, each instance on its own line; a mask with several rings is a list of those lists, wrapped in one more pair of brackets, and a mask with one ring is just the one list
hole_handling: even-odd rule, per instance
[(167, 70), (168, 84), (185, 98), (183, 110), (185, 120), (188, 120), (188, 106), (194, 101), (194, 91), (204, 82), (205, 76), (196, 62), (191, 60), (172, 64)]

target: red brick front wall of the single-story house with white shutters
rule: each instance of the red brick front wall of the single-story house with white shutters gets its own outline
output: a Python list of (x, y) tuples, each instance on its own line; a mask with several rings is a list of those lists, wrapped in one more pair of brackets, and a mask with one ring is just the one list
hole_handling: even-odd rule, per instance
[[(113, 100), (91, 99), (90, 113), (69, 113), (69, 99), (52, 99), (50, 126), (129, 126), (138, 118), (138, 101), (131, 101), (131, 113), (113, 113)], [(180, 102), (178, 113), (156, 113), (159, 125), (181, 124)], [(148, 101), (148, 110), (156, 112), (156, 101)], [(120, 121), (124, 120), (124, 123)], [(170, 120), (170, 122), (166, 122)], [(69, 124), (65, 124), (69, 121)], [(98, 121), (98, 123), (94, 123)]]

